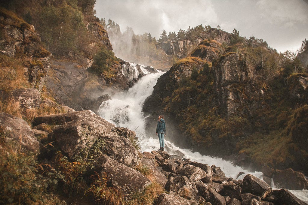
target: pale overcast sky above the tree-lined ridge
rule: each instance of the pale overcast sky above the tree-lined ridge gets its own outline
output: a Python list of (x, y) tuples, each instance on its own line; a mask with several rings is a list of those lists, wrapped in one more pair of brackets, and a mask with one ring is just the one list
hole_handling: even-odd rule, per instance
[(124, 32), (178, 32), (199, 24), (267, 41), (278, 52), (296, 51), (308, 39), (307, 0), (97, 0), (96, 16), (111, 19)]

